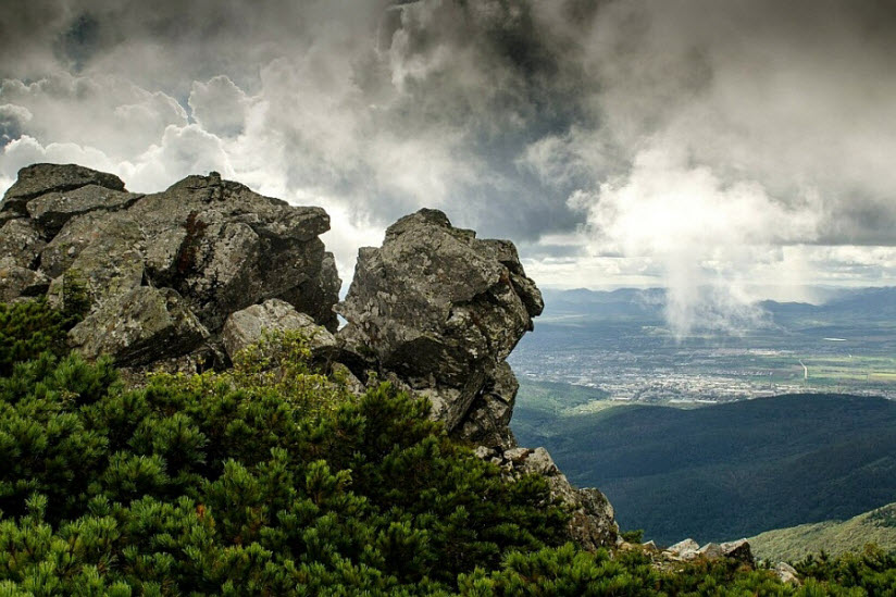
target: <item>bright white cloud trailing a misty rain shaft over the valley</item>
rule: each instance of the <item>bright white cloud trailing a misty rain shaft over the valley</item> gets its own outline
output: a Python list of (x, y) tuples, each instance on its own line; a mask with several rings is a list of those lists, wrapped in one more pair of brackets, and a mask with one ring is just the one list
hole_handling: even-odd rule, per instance
[(780, 261), (774, 247), (811, 241), (819, 226), (817, 195), (799, 204), (777, 201), (758, 183), (726, 183), (689, 164), (683, 148), (662, 142), (639, 152), (629, 175), (595, 194), (576, 192), (570, 203), (587, 212), (593, 254), (662, 265), (667, 315), (682, 336), (697, 324), (756, 326), (761, 313), (750, 307), (757, 297), (749, 289), (756, 264)]

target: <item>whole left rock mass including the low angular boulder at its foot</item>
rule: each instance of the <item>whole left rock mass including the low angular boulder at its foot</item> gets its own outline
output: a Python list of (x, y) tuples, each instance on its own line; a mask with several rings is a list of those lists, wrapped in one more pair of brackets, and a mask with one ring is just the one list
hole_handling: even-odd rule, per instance
[(0, 299), (83, 301), (71, 338), (89, 357), (133, 366), (189, 353), (220, 361), (227, 318), (273, 298), (336, 329), (340, 283), (319, 238), (326, 212), (216, 173), (136, 195), (112, 174), (35, 164), (0, 202)]

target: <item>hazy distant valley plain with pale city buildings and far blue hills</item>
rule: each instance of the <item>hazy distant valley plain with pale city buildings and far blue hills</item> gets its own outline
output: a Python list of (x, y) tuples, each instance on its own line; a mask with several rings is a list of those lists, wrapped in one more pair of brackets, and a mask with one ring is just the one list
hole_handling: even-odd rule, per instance
[[(892, 288), (845, 293), (824, 306), (769, 301), (761, 329), (681, 340), (656, 295), (548, 294), (545, 316), (510, 358), (518, 377), (682, 407), (807, 391), (896, 399)], [(869, 304), (875, 300), (880, 308)]]

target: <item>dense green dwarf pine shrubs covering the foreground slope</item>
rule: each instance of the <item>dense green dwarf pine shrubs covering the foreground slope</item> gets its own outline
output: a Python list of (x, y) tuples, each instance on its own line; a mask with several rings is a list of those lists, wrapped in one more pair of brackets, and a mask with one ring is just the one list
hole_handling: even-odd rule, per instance
[(875, 549), (800, 562), (801, 587), (582, 551), (543, 478), (502, 477), (423, 400), (352, 395), (300, 337), (128, 386), (66, 352), (73, 318), (0, 306), (0, 596), (896, 593)]

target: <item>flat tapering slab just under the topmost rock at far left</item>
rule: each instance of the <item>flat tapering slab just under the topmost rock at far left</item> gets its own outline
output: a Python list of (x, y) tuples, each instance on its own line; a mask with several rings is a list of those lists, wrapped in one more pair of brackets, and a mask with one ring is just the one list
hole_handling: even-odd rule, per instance
[(97, 210), (117, 211), (140, 197), (142, 195), (87, 185), (71, 191), (41, 195), (28, 201), (26, 209), (33, 220), (50, 234), (55, 234), (75, 215)]

